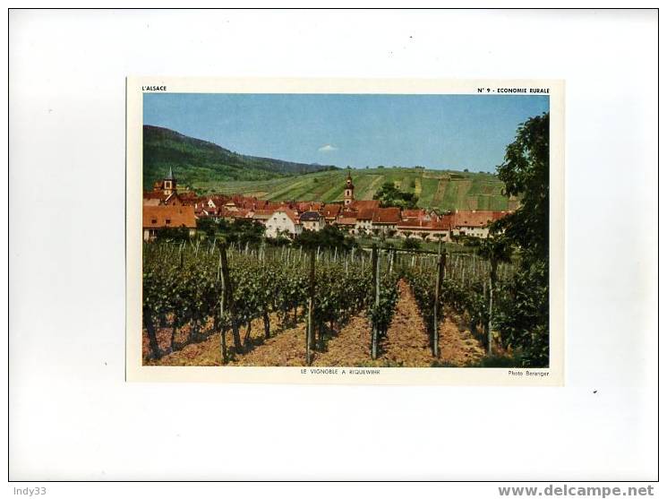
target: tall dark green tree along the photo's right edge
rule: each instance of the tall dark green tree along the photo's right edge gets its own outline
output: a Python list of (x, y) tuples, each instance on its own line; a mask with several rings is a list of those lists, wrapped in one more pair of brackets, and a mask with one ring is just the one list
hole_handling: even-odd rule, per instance
[(520, 196), (514, 213), (492, 224), (517, 245), (517, 271), (506, 286), (494, 320), (525, 366), (549, 366), (549, 114), (519, 125), (497, 168), (505, 195)]

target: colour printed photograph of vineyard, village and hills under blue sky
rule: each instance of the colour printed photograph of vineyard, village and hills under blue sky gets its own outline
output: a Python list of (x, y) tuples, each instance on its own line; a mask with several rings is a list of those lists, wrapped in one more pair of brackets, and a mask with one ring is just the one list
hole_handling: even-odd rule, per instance
[(549, 367), (550, 97), (480, 90), (144, 93), (142, 365)]

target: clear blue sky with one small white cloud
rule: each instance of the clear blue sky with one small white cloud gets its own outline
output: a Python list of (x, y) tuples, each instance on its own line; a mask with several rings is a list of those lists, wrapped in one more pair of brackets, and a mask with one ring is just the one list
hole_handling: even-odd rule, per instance
[(494, 171), (541, 95), (146, 93), (144, 125), (231, 151), (337, 167)]

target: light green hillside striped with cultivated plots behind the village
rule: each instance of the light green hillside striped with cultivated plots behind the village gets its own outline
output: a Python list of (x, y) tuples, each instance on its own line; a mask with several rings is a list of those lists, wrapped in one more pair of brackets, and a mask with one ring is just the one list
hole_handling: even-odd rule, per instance
[[(322, 201), (343, 199), (346, 170), (323, 171), (297, 178), (255, 182), (224, 182), (216, 192), (248, 194), (271, 201)], [(502, 194), (497, 176), (449, 170), (416, 168), (363, 168), (351, 171), (355, 199), (372, 199), (385, 182), (419, 196), (418, 205), (440, 210), (508, 210), (517, 202)]]

